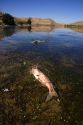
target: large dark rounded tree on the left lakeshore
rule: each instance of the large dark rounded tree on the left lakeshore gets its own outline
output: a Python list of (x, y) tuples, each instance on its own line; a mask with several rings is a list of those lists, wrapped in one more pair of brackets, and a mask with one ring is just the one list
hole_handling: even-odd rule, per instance
[(3, 15), (2, 21), (5, 25), (15, 25), (14, 17), (8, 13)]

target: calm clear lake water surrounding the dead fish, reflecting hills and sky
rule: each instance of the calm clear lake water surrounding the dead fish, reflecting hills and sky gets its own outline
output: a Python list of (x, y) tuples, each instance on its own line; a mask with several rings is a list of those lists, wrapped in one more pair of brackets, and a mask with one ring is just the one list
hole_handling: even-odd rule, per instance
[[(59, 90), (60, 103), (45, 103), (48, 90), (30, 74), (33, 65)], [(2, 29), (0, 107), (3, 125), (82, 125), (83, 34), (47, 26)]]

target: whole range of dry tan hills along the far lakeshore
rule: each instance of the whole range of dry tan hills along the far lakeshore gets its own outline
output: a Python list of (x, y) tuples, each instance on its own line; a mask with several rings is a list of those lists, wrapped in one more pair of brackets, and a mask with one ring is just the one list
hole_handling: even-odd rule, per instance
[[(3, 18), (4, 14), (5, 14), (4, 12), (0, 12), (0, 25), (3, 25), (2, 18)], [(44, 26), (45, 25), (45, 26), (55, 26), (55, 27), (62, 27), (62, 28), (64, 26), (65, 27), (77, 27), (77, 26), (83, 27), (83, 21), (70, 23), (70, 24), (61, 24), (61, 23), (55, 22), (51, 18), (43, 19), (43, 18), (33, 18), (33, 17), (31, 17), (31, 18), (29, 18), (29, 17), (28, 18), (18, 18), (18, 17), (14, 17), (14, 16), (12, 16), (12, 17), (14, 18), (15, 24), (17, 26), (27, 26), (28, 20), (30, 20), (32, 26), (34, 26), (34, 25), (35, 26), (39, 26), (39, 25)]]

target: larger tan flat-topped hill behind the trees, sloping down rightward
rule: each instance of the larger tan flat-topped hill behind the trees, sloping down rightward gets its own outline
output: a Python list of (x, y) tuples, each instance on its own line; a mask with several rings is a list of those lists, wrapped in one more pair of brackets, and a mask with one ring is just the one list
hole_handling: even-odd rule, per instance
[[(5, 13), (4, 12), (0, 12), (0, 22), (3, 23), (2, 21), (2, 18), (3, 18), (3, 15)], [(12, 15), (11, 15), (12, 16)], [(56, 27), (59, 27), (59, 26), (63, 26), (63, 24), (59, 24), (57, 22), (55, 22), (54, 20), (52, 20), (51, 18), (18, 18), (18, 17), (14, 17), (14, 21), (16, 23), (17, 26), (26, 26), (28, 24), (28, 20), (30, 19), (31, 21), (31, 25), (45, 25), (45, 26), (56, 26)]]

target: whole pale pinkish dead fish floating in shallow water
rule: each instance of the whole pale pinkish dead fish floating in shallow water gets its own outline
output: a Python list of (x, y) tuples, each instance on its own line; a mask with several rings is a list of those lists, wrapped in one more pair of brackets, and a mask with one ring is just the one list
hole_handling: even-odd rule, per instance
[(49, 101), (53, 96), (57, 98), (57, 101), (59, 101), (58, 94), (54, 89), (54, 86), (52, 82), (49, 80), (49, 78), (41, 72), (37, 66), (33, 67), (30, 71), (31, 74), (34, 75), (35, 79), (37, 79), (43, 86), (46, 86), (49, 90), (49, 94), (46, 98), (46, 102)]

